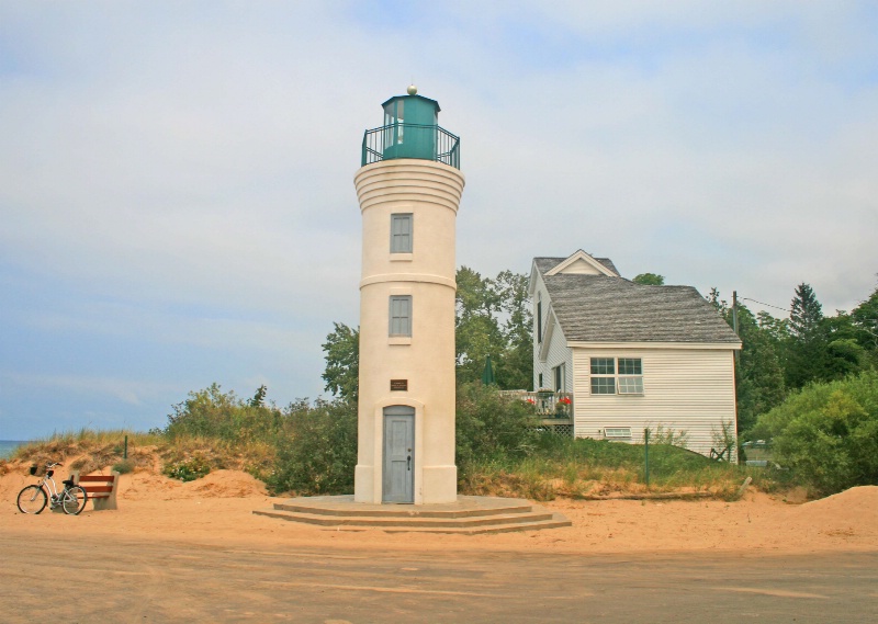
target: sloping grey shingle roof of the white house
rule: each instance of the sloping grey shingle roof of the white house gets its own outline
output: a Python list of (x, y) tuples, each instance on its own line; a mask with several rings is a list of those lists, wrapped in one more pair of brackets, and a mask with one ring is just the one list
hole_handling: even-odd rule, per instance
[[(720, 342), (740, 339), (691, 286), (646, 286), (605, 275), (545, 275), (558, 262), (534, 263), (571, 341)], [(547, 262), (542, 262), (547, 261)], [(543, 269), (545, 266), (545, 269)]]

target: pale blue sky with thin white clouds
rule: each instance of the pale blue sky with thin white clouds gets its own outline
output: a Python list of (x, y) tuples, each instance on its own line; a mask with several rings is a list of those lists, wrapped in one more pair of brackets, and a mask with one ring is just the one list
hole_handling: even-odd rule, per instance
[(326, 396), (363, 131), (413, 81), (461, 137), (459, 265), (583, 249), (849, 310), (877, 32), (844, 0), (0, 0), (0, 439), (160, 428), (214, 382)]

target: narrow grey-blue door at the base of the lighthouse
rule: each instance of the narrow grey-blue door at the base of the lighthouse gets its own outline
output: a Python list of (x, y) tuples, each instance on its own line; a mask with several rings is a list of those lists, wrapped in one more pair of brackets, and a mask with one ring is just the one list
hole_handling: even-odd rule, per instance
[(382, 502), (415, 502), (415, 409), (384, 408)]

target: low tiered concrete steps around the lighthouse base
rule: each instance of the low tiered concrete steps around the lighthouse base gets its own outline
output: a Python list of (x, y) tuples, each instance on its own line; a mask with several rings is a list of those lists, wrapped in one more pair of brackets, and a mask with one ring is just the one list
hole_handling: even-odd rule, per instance
[(379, 529), (387, 533), (474, 535), (571, 525), (562, 514), (527, 500), (479, 496), (459, 496), (451, 503), (417, 506), (360, 503), (352, 496), (301, 497), (254, 513), (335, 531)]

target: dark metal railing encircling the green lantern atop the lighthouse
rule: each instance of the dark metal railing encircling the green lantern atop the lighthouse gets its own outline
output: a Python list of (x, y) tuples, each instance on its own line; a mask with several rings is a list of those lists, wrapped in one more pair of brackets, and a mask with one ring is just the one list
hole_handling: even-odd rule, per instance
[(460, 137), (440, 126), (391, 124), (365, 131), (362, 166), (381, 160), (419, 158), (460, 169)]

